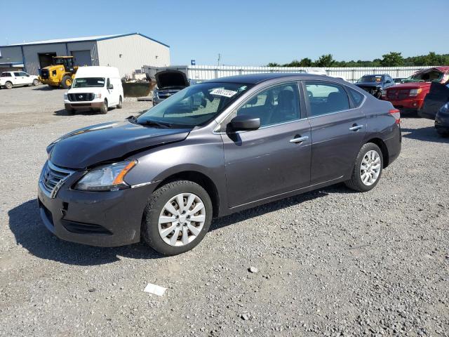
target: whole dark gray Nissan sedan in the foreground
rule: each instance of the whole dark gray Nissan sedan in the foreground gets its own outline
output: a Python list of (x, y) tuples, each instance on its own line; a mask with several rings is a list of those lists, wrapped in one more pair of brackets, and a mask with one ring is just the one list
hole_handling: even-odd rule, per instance
[(391, 103), (331, 77), (206, 81), (51, 143), (41, 218), (67, 241), (182, 253), (214, 217), (340, 182), (373, 189), (401, 151), (399, 122)]

